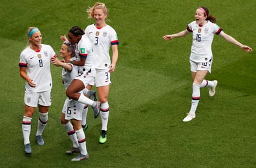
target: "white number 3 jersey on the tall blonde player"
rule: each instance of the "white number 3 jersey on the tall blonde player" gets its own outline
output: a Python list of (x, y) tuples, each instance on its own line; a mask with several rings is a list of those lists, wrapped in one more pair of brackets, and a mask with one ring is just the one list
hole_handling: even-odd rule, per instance
[(93, 60), (96, 69), (108, 69), (111, 64), (109, 48), (111, 45), (118, 45), (116, 31), (109, 25), (98, 29), (94, 24), (88, 25), (85, 35), (93, 45)]

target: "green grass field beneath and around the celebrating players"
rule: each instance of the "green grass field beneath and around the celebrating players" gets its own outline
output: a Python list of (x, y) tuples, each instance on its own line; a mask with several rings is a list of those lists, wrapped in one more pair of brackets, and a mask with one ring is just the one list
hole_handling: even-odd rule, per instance
[(196, 118), (190, 110), (191, 35), (166, 42), (207, 6), (224, 32), (256, 50), (255, 1), (106, 0), (109, 25), (117, 32), (119, 61), (109, 94), (108, 140), (99, 144), (100, 119), (90, 110), (86, 145), (89, 159), (71, 162), (70, 139), (60, 123), (65, 100), (61, 68), (52, 66), (53, 89), (44, 146), (35, 142), (38, 113), (32, 120), (32, 156), (24, 154), (21, 130), (24, 80), (19, 55), (25, 32), (39, 27), (45, 44), (58, 54), (60, 35), (74, 25), (85, 28), (88, 1), (6, 1), (0, 3), (1, 135), (0, 167), (256, 167), (255, 51), (245, 53), (221, 37), (213, 42), (216, 95), (201, 89)]

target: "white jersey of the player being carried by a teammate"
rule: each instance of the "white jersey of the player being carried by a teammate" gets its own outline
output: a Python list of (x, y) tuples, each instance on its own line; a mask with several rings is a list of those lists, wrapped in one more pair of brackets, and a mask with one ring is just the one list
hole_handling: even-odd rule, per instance
[(75, 61), (80, 61), (80, 58), (85, 58), (85, 66), (79, 66), (80, 73), (83, 70), (89, 70), (93, 66), (92, 57), (92, 45), (88, 37), (82, 35), (81, 40), (76, 44), (75, 48), (76, 59)]

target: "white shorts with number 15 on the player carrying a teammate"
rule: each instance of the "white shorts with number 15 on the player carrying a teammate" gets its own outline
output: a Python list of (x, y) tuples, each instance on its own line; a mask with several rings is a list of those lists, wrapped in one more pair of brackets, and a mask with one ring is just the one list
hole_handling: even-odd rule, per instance
[(66, 98), (62, 108), (62, 113), (65, 113), (65, 120), (76, 119), (81, 121), (84, 107), (84, 104), (81, 104), (76, 100)]

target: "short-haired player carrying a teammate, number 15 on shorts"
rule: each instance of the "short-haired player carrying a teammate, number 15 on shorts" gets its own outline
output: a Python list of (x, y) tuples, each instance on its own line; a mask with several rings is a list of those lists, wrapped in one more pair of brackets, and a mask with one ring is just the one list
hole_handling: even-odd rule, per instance
[[(78, 74), (78, 66), (70, 63), (72, 58), (75, 58), (75, 50), (70, 42), (65, 41), (62, 44), (62, 48), (60, 49), (60, 57), (62, 57), (64, 60), (52, 58), (51, 63), (63, 68), (62, 79), (66, 89)], [(83, 92), (81, 92), (81, 94), (83, 94)], [(89, 157), (86, 149), (85, 133), (81, 127), (81, 118), (84, 106), (84, 104), (67, 97), (65, 104), (63, 105), (62, 115), (60, 117), (66, 133), (73, 142), (73, 146), (69, 151), (66, 151), (66, 154), (80, 153), (78, 156), (71, 159), (71, 161), (81, 161), (83, 159), (88, 159)]]

